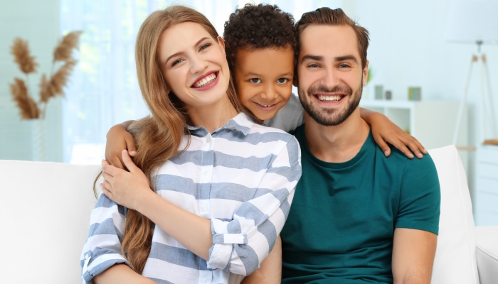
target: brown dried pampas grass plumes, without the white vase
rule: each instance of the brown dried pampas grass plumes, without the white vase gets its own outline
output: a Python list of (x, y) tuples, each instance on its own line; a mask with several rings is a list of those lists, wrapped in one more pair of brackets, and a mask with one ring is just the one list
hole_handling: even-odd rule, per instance
[[(26, 82), (28, 73), (36, 72), (38, 63), (35, 62), (34, 57), (30, 55), (28, 42), (16, 38), (14, 45), (12, 45), (11, 53), (14, 55), (14, 62), (19, 66), (19, 69), (26, 74), (26, 82), (14, 78), (14, 83), (10, 84), (12, 97), (14, 102), (21, 110), (22, 119), (39, 119), (44, 118), (48, 100), (56, 96), (64, 96), (63, 88), (68, 84), (69, 76), (73, 72), (77, 60), (73, 59), (73, 50), (78, 48), (78, 41), (81, 31), (74, 31), (65, 35), (60, 43), (53, 51), (52, 70), (55, 65), (60, 65), (55, 74), (51, 74), (48, 78), (47, 75), (41, 76), (40, 82), (40, 101), (38, 104), (29, 96), (28, 86)], [(40, 107), (41, 106), (41, 107)]]

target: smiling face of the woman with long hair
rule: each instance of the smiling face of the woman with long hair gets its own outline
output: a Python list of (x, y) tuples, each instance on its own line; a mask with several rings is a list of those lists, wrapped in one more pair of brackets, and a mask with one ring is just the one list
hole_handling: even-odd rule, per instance
[(166, 86), (187, 107), (214, 104), (226, 96), (230, 72), (225, 43), (198, 23), (179, 23), (159, 38), (159, 64)]

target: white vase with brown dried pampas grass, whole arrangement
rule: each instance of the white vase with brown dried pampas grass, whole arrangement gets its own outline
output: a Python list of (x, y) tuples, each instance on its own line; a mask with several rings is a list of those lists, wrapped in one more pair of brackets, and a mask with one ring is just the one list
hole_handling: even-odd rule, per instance
[[(24, 73), (25, 80), (15, 77), (14, 83), (10, 84), (12, 99), (19, 108), (21, 119), (31, 120), (31, 145), (33, 146), (33, 160), (46, 160), (45, 147), (45, 129), (46, 129), (46, 111), (48, 100), (64, 96), (63, 87), (68, 84), (68, 78), (73, 67), (78, 62), (73, 58), (73, 50), (78, 48), (78, 41), (81, 31), (73, 31), (65, 35), (53, 51), (53, 61), (50, 75), (42, 74), (40, 81), (40, 92), (38, 102), (33, 99), (29, 86), (29, 76), (36, 73), (38, 63), (35, 57), (31, 55), (28, 42), (21, 38), (14, 39), (11, 46), (11, 53), (14, 55), (14, 62), (17, 63), (19, 70)], [(56, 72), (53, 72), (58, 67)]]

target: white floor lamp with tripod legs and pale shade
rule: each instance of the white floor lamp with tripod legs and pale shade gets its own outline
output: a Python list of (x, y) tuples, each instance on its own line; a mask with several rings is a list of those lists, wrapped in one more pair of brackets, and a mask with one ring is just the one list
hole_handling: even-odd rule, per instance
[[(494, 111), (487, 58), (484, 53), (481, 53), (481, 45), (498, 44), (498, 17), (496, 11), (498, 11), (498, 1), (492, 0), (454, 0), (450, 6), (445, 39), (454, 43), (470, 43), (477, 45), (477, 54), (472, 54), (467, 81), (465, 82), (462, 99), (460, 101), (460, 112), (457, 116), (455, 135), (453, 137), (453, 144), (455, 145), (458, 143), (458, 134), (462, 130), (462, 114), (467, 104), (467, 93), (470, 87), (470, 78), (472, 77), (472, 70), (475, 63), (477, 63), (480, 69), (479, 113), (481, 133), (478, 141), (484, 141), (489, 138), (487, 137), (487, 133), (490, 133), (492, 138), (498, 138), (497, 116)], [(484, 89), (487, 89), (487, 96)]]

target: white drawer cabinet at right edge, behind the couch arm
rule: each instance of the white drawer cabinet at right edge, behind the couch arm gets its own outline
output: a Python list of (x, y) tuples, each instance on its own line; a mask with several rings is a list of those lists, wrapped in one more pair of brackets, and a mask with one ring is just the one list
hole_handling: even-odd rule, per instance
[(475, 224), (498, 225), (498, 146), (477, 147)]

